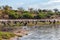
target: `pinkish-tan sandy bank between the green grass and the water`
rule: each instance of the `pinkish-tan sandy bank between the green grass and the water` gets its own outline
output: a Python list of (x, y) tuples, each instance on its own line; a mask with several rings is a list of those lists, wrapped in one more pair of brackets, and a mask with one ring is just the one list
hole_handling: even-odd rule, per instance
[(16, 36), (13, 37), (13, 38), (10, 38), (9, 40), (17, 40), (18, 37), (23, 37), (25, 35), (28, 35), (29, 31), (28, 30), (22, 30), (21, 29), (21, 30), (15, 31), (13, 33), (16, 34)]

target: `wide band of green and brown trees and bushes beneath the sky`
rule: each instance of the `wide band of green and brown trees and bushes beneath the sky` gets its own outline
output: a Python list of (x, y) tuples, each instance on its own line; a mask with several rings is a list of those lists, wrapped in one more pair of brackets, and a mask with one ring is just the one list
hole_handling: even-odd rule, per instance
[[(32, 15), (33, 14), (33, 15)], [(55, 15), (56, 17), (60, 16), (60, 11), (58, 9), (46, 10), (46, 9), (33, 9), (29, 8), (29, 10), (25, 10), (20, 7), (17, 10), (12, 9), (12, 7), (6, 5), (0, 7), (0, 18), (1, 19), (42, 19), (42, 18), (51, 18), (51, 16)], [(55, 18), (56, 18), (55, 17)]]

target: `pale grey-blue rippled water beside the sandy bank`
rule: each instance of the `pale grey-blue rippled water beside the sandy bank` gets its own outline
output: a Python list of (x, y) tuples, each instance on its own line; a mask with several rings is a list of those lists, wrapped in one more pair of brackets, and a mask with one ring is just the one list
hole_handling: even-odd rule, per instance
[(31, 34), (19, 40), (60, 40), (60, 25), (28, 27)]

